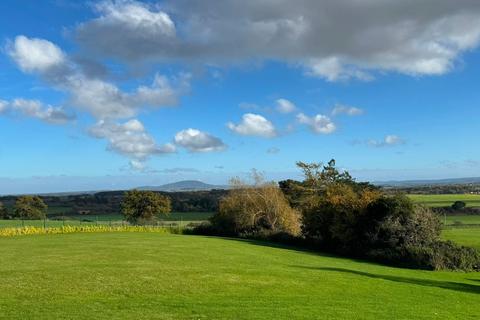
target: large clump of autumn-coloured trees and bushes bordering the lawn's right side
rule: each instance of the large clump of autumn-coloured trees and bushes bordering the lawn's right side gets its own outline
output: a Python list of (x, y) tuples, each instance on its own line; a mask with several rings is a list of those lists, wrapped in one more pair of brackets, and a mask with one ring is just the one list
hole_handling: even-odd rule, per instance
[(430, 209), (403, 194), (356, 182), (335, 161), (297, 163), (304, 180), (234, 179), (218, 212), (195, 233), (281, 241), (349, 257), (423, 269), (479, 270), (473, 248), (440, 239)]

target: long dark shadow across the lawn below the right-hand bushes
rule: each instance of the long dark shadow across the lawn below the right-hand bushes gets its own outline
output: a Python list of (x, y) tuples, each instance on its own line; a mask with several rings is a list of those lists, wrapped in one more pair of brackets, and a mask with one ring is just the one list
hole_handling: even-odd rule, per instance
[[(322, 267), (307, 267), (307, 266), (294, 266), (294, 267), (302, 268), (302, 269), (319, 270), (319, 271), (342, 272), (342, 273), (354, 274), (362, 277), (368, 277), (372, 279), (382, 279), (387, 281), (407, 283), (407, 284), (413, 284), (413, 285), (424, 286), (424, 287), (435, 287), (435, 288), (454, 290), (454, 291), (460, 291), (460, 292), (466, 292), (466, 293), (480, 294), (480, 286), (468, 284), (468, 283), (389, 276), (389, 275), (373, 274), (373, 273), (343, 269), (343, 268), (328, 268), (328, 267), (322, 268)], [(479, 281), (479, 280), (475, 280), (475, 281)]]

